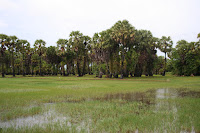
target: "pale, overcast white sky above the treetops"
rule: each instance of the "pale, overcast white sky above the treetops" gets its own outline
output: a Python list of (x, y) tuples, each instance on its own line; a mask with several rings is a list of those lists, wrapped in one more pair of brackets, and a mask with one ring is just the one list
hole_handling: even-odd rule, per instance
[(31, 46), (36, 39), (56, 46), (76, 30), (92, 37), (124, 19), (155, 37), (170, 36), (175, 47), (181, 39), (197, 41), (200, 0), (0, 0), (0, 34)]

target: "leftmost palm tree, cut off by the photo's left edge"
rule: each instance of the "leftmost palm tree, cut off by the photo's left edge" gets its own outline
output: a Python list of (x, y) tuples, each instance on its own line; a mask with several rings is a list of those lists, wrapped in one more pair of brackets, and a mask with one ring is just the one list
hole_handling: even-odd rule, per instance
[(5, 34), (0, 34), (0, 44), (1, 44), (1, 67), (2, 67), (2, 77), (5, 77), (4, 75), (4, 53), (5, 53), (5, 50), (6, 50), (6, 41), (7, 41), (7, 35)]

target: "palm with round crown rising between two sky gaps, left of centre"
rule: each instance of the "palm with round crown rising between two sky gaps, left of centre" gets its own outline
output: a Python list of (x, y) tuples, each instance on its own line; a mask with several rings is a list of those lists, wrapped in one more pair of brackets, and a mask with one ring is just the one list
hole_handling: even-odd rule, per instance
[(35, 43), (34, 43), (34, 47), (35, 47), (35, 50), (37, 51), (39, 57), (40, 57), (40, 76), (42, 76), (42, 71), (41, 71), (41, 68), (42, 68), (42, 54), (44, 53), (44, 47), (45, 47), (45, 44), (46, 42), (43, 41), (43, 40), (36, 40)]

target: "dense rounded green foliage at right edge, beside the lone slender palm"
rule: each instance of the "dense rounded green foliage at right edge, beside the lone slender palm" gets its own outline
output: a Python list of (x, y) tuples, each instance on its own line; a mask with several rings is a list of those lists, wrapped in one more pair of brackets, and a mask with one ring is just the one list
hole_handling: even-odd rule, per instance
[(200, 75), (199, 51), (199, 42), (178, 41), (176, 48), (172, 50), (173, 73), (186, 76)]

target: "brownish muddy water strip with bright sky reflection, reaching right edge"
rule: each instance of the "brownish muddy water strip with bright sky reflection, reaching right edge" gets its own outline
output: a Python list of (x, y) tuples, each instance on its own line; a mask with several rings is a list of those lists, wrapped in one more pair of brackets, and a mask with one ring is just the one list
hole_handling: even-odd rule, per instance
[(125, 100), (128, 102), (136, 101), (146, 104), (155, 104), (155, 101), (158, 99), (167, 100), (181, 97), (200, 98), (200, 92), (187, 91), (186, 89), (162, 88), (157, 90), (148, 90), (146, 92), (107, 94), (104, 97), (94, 98), (94, 100)]

